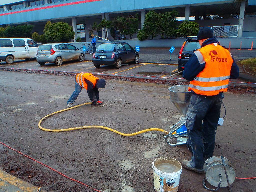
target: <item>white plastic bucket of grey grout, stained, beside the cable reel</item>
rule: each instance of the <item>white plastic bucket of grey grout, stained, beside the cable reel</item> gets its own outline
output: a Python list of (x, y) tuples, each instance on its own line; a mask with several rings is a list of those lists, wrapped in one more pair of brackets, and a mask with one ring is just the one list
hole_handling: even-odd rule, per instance
[[(179, 168), (177, 172), (166, 173), (158, 170), (157, 165), (169, 163)], [(182, 166), (176, 159), (170, 157), (160, 157), (153, 161), (154, 189), (157, 192), (177, 192), (179, 188), (179, 178), (182, 173)]]

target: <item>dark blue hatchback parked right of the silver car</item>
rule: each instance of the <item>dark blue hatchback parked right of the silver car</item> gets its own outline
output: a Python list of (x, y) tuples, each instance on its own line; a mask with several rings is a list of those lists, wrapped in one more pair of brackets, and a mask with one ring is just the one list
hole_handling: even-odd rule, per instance
[(138, 64), (139, 53), (128, 43), (106, 42), (99, 45), (96, 53), (93, 54), (92, 62), (96, 68), (101, 65), (114, 65), (119, 69), (123, 63)]

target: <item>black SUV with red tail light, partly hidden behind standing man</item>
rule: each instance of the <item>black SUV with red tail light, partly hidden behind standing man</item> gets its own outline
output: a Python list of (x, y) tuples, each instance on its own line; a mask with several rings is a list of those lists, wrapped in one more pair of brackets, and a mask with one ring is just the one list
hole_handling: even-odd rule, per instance
[[(218, 42), (218, 44), (219, 44), (219, 42)], [(184, 42), (184, 44), (179, 52), (179, 57), (178, 57), (179, 72), (184, 70), (184, 66), (188, 62), (191, 55), (193, 55), (193, 53), (197, 49), (200, 49), (200, 48), (201, 48), (201, 45), (199, 44), (199, 42), (197, 40), (197, 36), (196, 37), (187, 37), (187, 40)]]

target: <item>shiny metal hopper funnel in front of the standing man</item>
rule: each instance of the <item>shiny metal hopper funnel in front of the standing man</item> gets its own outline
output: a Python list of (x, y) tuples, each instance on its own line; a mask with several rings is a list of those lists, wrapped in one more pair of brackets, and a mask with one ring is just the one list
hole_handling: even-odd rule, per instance
[(178, 85), (169, 88), (170, 99), (180, 112), (182, 122), (186, 121), (186, 114), (192, 93), (188, 91), (188, 85)]

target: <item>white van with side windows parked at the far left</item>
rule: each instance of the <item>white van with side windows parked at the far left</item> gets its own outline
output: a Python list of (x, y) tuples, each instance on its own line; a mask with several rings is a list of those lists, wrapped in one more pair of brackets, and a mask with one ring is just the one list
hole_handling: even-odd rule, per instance
[(0, 38), (0, 62), (12, 64), (14, 59), (35, 59), (38, 47), (32, 39)]

